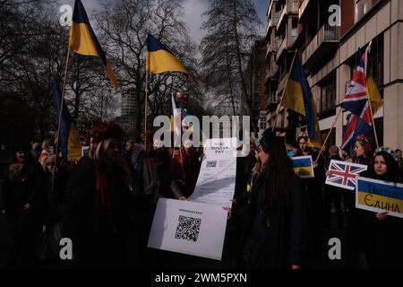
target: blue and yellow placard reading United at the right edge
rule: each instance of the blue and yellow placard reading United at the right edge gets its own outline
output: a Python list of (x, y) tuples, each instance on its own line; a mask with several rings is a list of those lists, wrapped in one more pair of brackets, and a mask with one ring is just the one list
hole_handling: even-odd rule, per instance
[(357, 177), (356, 208), (403, 218), (403, 185)]

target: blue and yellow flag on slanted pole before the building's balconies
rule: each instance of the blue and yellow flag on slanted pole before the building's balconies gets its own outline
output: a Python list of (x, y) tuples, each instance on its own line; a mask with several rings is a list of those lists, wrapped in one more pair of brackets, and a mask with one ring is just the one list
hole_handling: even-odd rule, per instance
[(301, 61), (296, 57), (294, 65), (291, 67), (287, 86), (284, 88), (284, 97), (282, 105), (287, 109), (293, 109), (297, 113), (305, 116), (307, 123), (307, 132), (310, 144), (313, 147), (322, 146), (321, 130), (319, 128), (316, 107), (313, 101), (311, 88), (306, 79), (304, 68)]

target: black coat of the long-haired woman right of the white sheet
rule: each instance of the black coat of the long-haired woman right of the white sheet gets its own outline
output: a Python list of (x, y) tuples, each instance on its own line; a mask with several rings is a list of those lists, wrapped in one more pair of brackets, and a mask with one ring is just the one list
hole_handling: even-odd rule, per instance
[(270, 216), (258, 206), (258, 193), (266, 192), (263, 177), (253, 187), (243, 211), (244, 227), (238, 257), (240, 267), (287, 269), (302, 265), (306, 250), (306, 210), (301, 180), (293, 175), (291, 206), (277, 205)]

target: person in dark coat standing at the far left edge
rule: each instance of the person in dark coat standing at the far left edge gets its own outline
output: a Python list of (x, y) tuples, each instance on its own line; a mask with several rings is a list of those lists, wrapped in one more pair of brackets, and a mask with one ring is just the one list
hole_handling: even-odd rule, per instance
[(4, 178), (0, 214), (7, 217), (13, 239), (8, 265), (29, 266), (46, 208), (44, 171), (27, 148), (17, 148), (16, 159)]

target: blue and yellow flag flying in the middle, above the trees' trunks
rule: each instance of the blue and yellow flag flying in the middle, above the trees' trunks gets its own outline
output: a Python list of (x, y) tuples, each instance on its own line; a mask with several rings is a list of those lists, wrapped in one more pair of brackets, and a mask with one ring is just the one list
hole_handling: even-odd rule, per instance
[(151, 74), (165, 72), (187, 73), (184, 65), (158, 39), (149, 34), (147, 39), (147, 71)]

